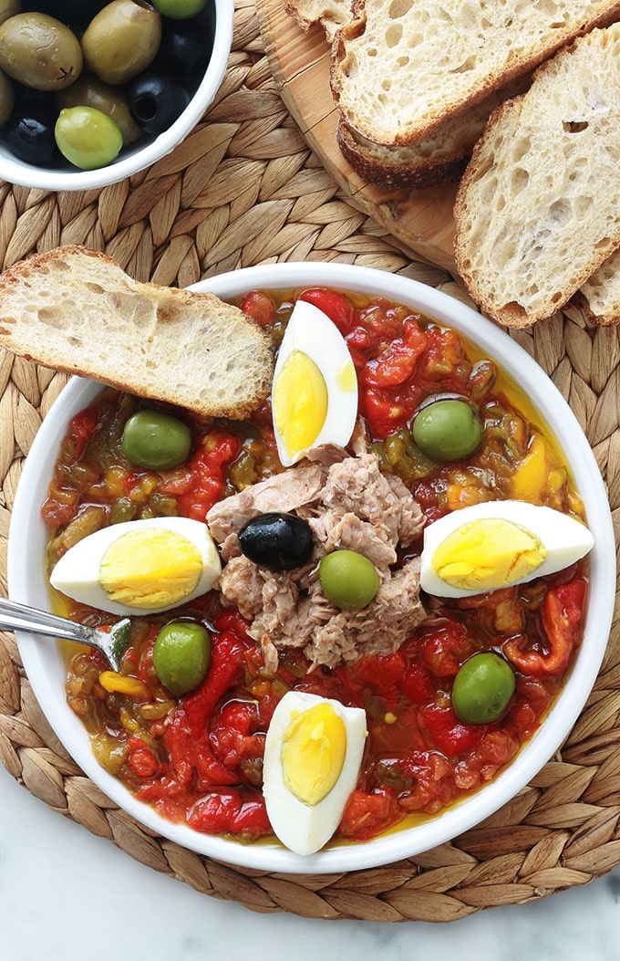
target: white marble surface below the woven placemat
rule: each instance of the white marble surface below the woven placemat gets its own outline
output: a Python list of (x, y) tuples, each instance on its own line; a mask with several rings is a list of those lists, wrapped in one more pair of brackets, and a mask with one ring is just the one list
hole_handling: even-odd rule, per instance
[(198, 894), (38, 801), (0, 767), (3, 961), (614, 961), (620, 869), (450, 924), (318, 921)]

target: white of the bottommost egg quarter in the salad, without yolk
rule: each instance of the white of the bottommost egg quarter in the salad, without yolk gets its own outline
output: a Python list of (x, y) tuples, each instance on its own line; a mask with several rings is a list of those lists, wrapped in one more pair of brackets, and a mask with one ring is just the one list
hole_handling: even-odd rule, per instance
[[(282, 771), (284, 733), (298, 714), (318, 702), (328, 702), (346, 727), (346, 755), (341, 774), (326, 797), (309, 805), (287, 787)], [(340, 824), (346, 801), (354, 789), (362, 764), (366, 739), (366, 712), (338, 701), (301, 691), (289, 691), (278, 702), (267, 731), (263, 761), (263, 795), (275, 836), (298, 854), (312, 854), (329, 841)]]

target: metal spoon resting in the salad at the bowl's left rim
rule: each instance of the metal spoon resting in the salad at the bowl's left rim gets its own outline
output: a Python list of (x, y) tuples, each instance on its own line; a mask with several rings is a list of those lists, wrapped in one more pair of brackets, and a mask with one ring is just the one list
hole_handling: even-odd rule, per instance
[(120, 671), (121, 658), (130, 641), (131, 621), (125, 618), (109, 630), (88, 628), (66, 617), (0, 598), (0, 628), (30, 630), (34, 634), (87, 644), (101, 651), (114, 671)]

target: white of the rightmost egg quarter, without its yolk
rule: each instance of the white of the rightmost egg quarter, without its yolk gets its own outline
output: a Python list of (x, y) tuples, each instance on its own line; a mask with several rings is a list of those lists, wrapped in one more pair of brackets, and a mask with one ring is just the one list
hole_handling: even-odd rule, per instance
[(487, 593), (483, 589), (466, 590), (447, 583), (433, 570), (433, 556), (449, 534), (476, 520), (498, 518), (532, 531), (542, 542), (547, 555), (527, 577), (513, 584), (555, 574), (584, 557), (594, 546), (594, 537), (581, 521), (559, 510), (525, 501), (489, 501), (462, 507), (446, 514), (424, 529), (421, 554), (420, 586), (436, 597), (462, 598)]

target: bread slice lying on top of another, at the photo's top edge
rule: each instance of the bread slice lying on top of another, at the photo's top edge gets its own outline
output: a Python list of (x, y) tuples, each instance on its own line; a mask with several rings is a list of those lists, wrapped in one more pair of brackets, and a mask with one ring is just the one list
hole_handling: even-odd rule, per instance
[(444, 120), (620, 15), (620, 0), (360, 0), (332, 46), (346, 125), (375, 143), (414, 144)]

